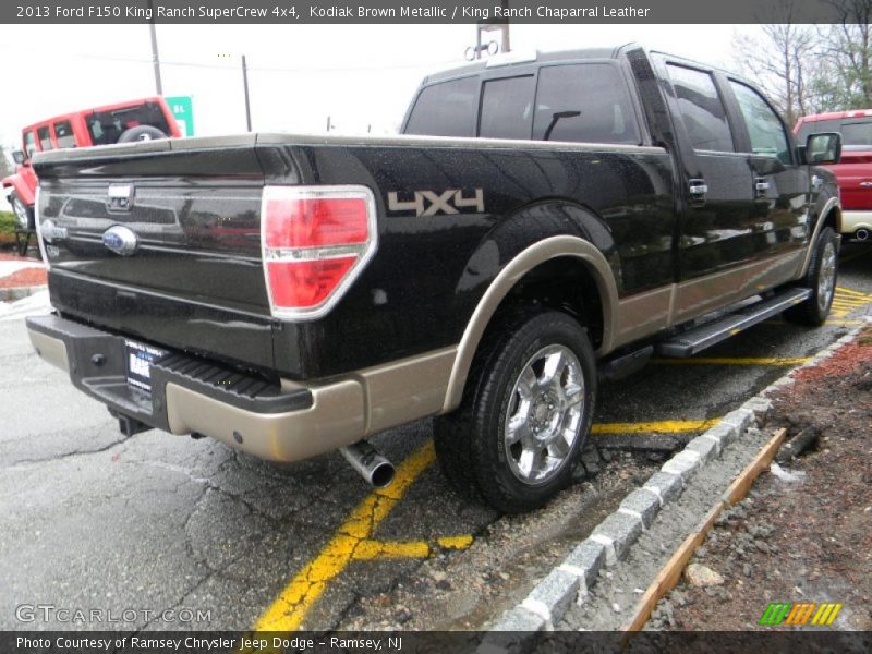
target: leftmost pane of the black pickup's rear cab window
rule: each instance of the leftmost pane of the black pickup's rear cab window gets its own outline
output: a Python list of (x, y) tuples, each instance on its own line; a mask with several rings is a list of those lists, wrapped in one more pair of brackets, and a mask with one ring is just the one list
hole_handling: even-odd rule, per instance
[(461, 77), (424, 87), (405, 125), (405, 134), (474, 136), (479, 77)]

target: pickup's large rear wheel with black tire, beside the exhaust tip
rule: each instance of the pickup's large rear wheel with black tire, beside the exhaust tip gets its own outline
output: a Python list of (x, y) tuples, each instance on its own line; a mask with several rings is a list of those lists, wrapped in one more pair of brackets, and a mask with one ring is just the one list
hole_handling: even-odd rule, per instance
[(519, 513), (571, 480), (591, 431), (596, 364), (567, 314), (528, 308), (497, 320), (460, 408), (436, 422), (436, 453), (458, 489)]

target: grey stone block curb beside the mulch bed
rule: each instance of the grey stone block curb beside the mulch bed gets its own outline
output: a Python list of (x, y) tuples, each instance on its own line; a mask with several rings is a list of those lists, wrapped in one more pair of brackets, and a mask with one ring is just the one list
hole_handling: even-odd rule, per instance
[[(865, 318), (872, 324), (872, 317)], [(528, 647), (536, 631), (552, 631), (571, 603), (584, 602), (588, 591), (600, 579), (604, 567), (614, 566), (627, 556), (635, 540), (647, 529), (661, 508), (681, 495), (685, 482), (703, 465), (715, 462), (723, 448), (756, 424), (765, 422), (772, 408), (768, 395), (794, 384), (796, 371), (812, 367), (829, 359), (837, 350), (853, 341), (863, 326), (856, 327), (814, 358), (792, 368), (739, 409), (727, 413), (715, 426), (688, 443), (683, 450), (666, 461), (641, 488), (628, 495), (617, 511), (597, 524), (591, 535), (531, 591), (523, 602), (504, 613), (487, 626), (487, 635), (479, 652), (499, 654)]]

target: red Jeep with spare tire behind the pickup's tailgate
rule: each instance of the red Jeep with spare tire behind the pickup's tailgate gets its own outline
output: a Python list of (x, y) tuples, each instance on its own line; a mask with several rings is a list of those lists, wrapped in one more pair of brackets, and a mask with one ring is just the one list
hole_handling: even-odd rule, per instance
[(34, 153), (168, 136), (180, 137), (181, 132), (164, 98), (144, 98), (84, 109), (24, 128), (22, 149), (12, 153), (12, 158), (19, 166), (17, 171), (3, 179), (3, 191), (15, 213), (17, 230), (34, 231), (34, 196), (37, 184), (31, 168)]

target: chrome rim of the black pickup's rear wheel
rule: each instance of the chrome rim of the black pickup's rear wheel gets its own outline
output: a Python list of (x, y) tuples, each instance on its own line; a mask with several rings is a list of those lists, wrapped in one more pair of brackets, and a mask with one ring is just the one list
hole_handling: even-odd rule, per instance
[(509, 468), (530, 485), (544, 484), (562, 469), (579, 437), (584, 376), (574, 352), (548, 346), (526, 362), (514, 382), (504, 444)]

